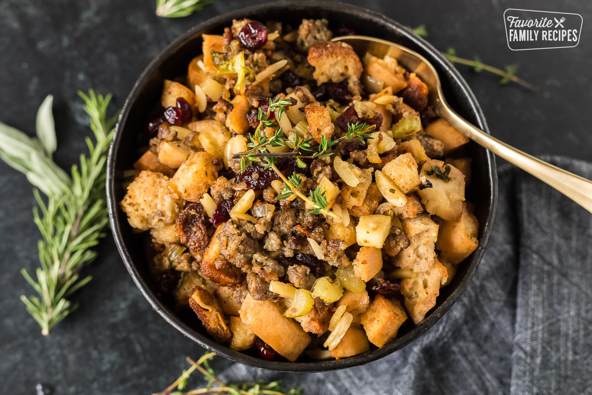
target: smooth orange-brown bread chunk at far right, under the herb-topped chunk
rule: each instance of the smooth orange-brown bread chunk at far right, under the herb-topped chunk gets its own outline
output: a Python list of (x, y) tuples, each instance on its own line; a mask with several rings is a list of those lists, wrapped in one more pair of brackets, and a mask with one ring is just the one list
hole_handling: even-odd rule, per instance
[(461, 217), (456, 221), (444, 221), (438, 231), (436, 248), (440, 256), (452, 264), (459, 264), (471, 255), (479, 245), (477, 217), (471, 214), (466, 203), (462, 205)]

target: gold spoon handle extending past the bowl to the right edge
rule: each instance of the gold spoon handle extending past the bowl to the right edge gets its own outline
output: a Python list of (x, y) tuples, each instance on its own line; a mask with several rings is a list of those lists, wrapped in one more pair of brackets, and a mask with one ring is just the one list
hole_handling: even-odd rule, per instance
[(438, 107), (439, 115), (469, 139), (532, 174), (592, 213), (592, 181), (501, 142), (464, 120), (446, 105)]

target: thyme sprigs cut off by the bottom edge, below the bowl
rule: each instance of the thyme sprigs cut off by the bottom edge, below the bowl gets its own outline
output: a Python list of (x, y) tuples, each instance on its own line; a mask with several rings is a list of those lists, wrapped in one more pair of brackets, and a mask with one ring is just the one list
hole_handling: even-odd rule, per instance
[[(186, 358), (187, 362), (191, 364), (191, 367), (184, 370), (181, 376), (164, 391), (153, 395), (303, 395), (303, 390), (301, 388), (295, 388), (295, 384), (292, 384), (291, 389), (286, 390), (281, 386), (281, 380), (271, 381), (270, 383), (265, 383), (263, 380), (241, 384), (223, 383), (210, 366), (210, 360), (214, 358), (214, 355), (213, 352), (206, 352), (197, 362), (191, 358)], [(184, 392), (183, 390), (187, 387), (189, 376), (196, 370), (204, 375), (204, 379), (208, 381), (207, 386)]]

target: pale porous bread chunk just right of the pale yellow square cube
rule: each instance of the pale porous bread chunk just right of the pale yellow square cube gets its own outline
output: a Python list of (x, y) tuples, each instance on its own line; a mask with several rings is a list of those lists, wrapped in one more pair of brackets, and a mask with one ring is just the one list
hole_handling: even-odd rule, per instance
[(402, 219), (401, 225), (411, 244), (395, 257), (395, 265), (402, 269), (423, 272), (432, 267), (436, 258), (435, 243), (438, 226), (429, 216)]

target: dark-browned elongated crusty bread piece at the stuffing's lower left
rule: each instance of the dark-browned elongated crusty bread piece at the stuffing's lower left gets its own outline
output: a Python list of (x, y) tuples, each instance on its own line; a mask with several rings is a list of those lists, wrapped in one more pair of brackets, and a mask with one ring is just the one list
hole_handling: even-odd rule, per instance
[(226, 343), (230, 340), (232, 332), (224, 322), (224, 313), (214, 295), (200, 286), (195, 287), (189, 298), (189, 306), (215, 341)]

